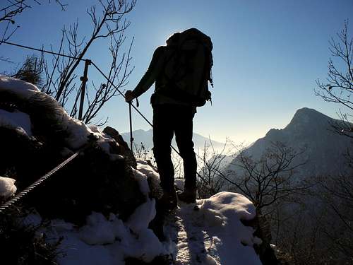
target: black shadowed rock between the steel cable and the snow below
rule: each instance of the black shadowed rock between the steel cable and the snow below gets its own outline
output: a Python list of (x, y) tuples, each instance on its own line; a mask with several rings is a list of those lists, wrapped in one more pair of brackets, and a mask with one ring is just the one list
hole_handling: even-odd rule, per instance
[[(43, 200), (43, 198), (45, 198)], [(126, 220), (145, 202), (138, 182), (124, 160), (110, 160), (93, 144), (30, 196), (47, 218), (63, 218), (81, 225), (92, 211), (119, 214)]]

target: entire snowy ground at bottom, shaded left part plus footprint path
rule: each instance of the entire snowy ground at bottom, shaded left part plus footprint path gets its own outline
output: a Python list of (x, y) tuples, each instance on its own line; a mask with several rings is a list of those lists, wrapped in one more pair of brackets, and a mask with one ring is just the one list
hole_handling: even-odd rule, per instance
[[(147, 163), (138, 160), (133, 170), (146, 202), (123, 223), (119, 216), (92, 213), (87, 223), (75, 228), (63, 220), (52, 220), (52, 235), (64, 237), (59, 259), (61, 265), (124, 264), (124, 258), (136, 257), (149, 262), (160, 254), (172, 254), (177, 265), (256, 265), (261, 264), (253, 249), (261, 240), (242, 220), (255, 217), (249, 199), (232, 192), (220, 192), (196, 204), (182, 204), (167, 217), (165, 242), (160, 242), (148, 223), (155, 217), (155, 201), (148, 198), (147, 178), (157, 177)], [(198, 208), (195, 209), (195, 206)]]

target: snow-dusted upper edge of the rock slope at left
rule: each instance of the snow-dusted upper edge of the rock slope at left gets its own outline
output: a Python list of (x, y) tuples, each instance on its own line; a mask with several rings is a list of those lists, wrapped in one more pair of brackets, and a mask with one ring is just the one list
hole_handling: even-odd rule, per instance
[[(92, 135), (97, 139), (101, 148), (109, 153), (109, 142), (113, 141), (111, 137), (104, 135), (95, 126), (88, 126), (84, 122), (70, 117), (64, 108), (59, 105), (59, 102), (56, 102), (52, 96), (40, 92), (31, 83), (8, 76), (0, 76), (0, 93), (1, 95), (6, 94), (16, 97), (16, 103), (23, 102), (22, 105), (25, 107), (22, 107), (28, 111), (28, 113), (23, 113), (18, 110), (13, 112), (0, 110), (0, 126), (17, 129), (22, 131), (23, 134), (31, 136), (32, 118), (37, 122), (47, 122), (48, 125), (60, 126), (61, 131), (68, 133), (66, 137), (68, 148), (73, 150), (81, 148), (88, 142), (88, 136)], [(38, 121), (38, 116), (40, 121)]]

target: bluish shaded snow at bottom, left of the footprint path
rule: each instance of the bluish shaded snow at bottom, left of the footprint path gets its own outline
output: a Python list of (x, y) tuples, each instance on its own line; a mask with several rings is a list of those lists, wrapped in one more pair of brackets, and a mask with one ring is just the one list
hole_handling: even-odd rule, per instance
[(149, 198), (147, 176), (133, 170), (145, 203), (138, 206), (125, 223), (119, 216), (93, 212), (86, 224), (75, 228), (64, 220), (52, 220), (49, 237), (63, 237), (59, 251), (65, 256), (59, 259), (61, 265), (119, 265), (126, 257), (136, 257), (150, 262), (160, 254), (167, 254), (148, 224), (155, 218), (155, 200)]

